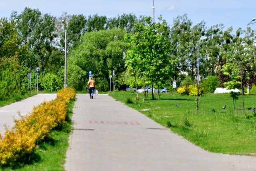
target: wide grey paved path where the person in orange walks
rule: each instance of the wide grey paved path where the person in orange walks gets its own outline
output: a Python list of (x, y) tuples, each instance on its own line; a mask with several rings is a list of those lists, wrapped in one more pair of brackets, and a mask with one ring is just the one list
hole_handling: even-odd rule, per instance
[(73, 112), (67, 171), (256, 170), (256, 157), (204, 151), (105, 94), (76, 94)]

